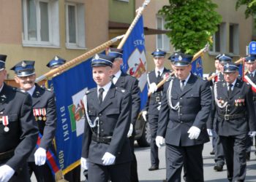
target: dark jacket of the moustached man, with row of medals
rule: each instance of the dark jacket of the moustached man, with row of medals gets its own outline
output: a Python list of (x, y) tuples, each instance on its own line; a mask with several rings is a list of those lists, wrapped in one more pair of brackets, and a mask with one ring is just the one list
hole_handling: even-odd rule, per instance
[[(53, 91), (39, 87), (38, 84), (36, 85), (36, 89), (32, 95), (32, 106), (34, 109), (46, 109), (46, 120), (43, 120), (44, 116), (41, 116), (41, 119), (37, 117), (37, 125), (39, 127), (39, 132), (42, 135), (41, 143), (39, 147), (48, 150), (49, 148), (51, 151), (54, 152), (53, 148), (53, 138), (56, 131), (56, 104), (55, 104), (55, 95)], [(34, 152), (37, 149), (34, 149)], [(29, 157), (29, 162), (34, 162), (34, 152)]]

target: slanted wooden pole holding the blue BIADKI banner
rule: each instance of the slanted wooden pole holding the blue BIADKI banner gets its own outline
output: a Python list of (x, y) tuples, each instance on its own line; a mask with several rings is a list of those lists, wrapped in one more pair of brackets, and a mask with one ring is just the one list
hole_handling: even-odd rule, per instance
[(43, 74), (42, 76), (39, 76), (36, 79), (36, 82), (40, 82), (43, 79), (47, 79), (50, 77), (53, 77), (53, 75), (59, 74), (69, 68), (71, 68), (72, 66), (77, 65), (78, 63), (81, 63), (85, 60), (87, 60), (88, 58), (90, 58), (91, 56), (93, 56), (94, 54), (96, 54), (97, 52), (100, 52), (102, 50), (105, 50), (105, 48), (110, 47), (111, 44), (115, 43), (116, 41), (118, 41), (119, 39), (123, 38), (124, 35), (122, 36), (116, 36), (115, 38), (106, 41), (104, 44), (99, 45), (98, 47), (95, 47), (92, 50), (89, 50), (89, 52), (84, 53), (83, 55), (78, 56), (77, 58), (74, 58), (72, 60), (69, 60), (67, 63), (65, 63), (64, 65), (59, 66), (58, 68), (55, 68), (53, 70), (48, 71), (46, 74)]

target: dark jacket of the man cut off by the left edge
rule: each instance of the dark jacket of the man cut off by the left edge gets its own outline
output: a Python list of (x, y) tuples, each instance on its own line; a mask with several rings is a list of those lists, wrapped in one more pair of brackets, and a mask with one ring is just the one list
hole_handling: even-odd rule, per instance
[(8, 116), (10, 129), (4, 132), (4, 124), (0, 122), (0, 153), (15, 149), (14, 156), (5, 164), (18, 171), (26, 163), (37, 142), (38, 128), (31, 97), (26, 92), (4, 84), (0, 92), (0, 103), (0, 114)]

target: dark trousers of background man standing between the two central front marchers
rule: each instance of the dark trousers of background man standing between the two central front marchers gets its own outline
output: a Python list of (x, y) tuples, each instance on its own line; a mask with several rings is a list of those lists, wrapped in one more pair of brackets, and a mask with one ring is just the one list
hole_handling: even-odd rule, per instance
[(156, 145), (158, 115), (148, 114), (148, 123), (151, 132), (150, 159), (152, 166), (159, 166), (158, 147)]

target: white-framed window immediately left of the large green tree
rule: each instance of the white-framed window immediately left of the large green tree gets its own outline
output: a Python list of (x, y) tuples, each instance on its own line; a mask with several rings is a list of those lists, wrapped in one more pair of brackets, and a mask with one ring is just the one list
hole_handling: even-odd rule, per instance
[[(165, 30), (165, 19), (157, 17), (157, 29)], [(157, 34), (157, 48), (170, 51), (170, 39), (165, 34)]]

